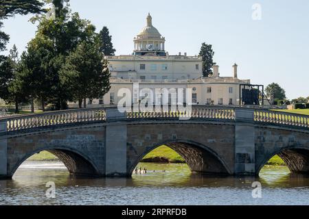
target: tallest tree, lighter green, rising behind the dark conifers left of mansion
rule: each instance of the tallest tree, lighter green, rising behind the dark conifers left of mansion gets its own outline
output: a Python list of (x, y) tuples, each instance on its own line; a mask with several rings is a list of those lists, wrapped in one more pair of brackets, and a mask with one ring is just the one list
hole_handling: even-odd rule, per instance
[(43, 14), (32, 20), (39, 21), (38, 31), (32, 44), (36, 44), (36, 48), (45, 47), (41, 43), (42, 40), (36, 40), (40, 38), (44, 39), (47, 44), (52, 44), (52, 55), (45, 63), (45, 72), (49, 75), (49, 79), (52, 79), (46, 102), (52, 103), (56, 110), (64, 110), (67, 108), (67, 101), (71, 101), (73, 96), (66, 86), (62, 86), (60, 69), (65, 64), (66, 57), (75, 51), (80, 42), (93, 38), (95, 27), (90, 21), (81, 19), (78, 13), (71, 13), (68, 0), (53, 0), (52, 2), (55, 8), (53, 18)]

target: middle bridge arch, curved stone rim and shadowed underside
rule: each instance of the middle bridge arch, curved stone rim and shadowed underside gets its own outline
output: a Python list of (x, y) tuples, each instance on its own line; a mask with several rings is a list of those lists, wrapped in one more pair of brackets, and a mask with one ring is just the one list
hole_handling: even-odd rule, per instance
[(135, 167), (143, 157), (162, 145), (166, 145), (170, 147), (170, 149), (176, 151), (176, 153), (179, 153), (179, 155), (185, 159), (185, 163), (189, 166), (192, 172), (209, 175), (233, 174), (225, 160), (222, 159), (216, 151), (209, 147), (191, 140), (168, 140), (155, 144), (154, 146), (146, 147), (146, 150), (144, 150), (143, 153), (141, 153), (129, 166), (129, 175), (132, 175)]

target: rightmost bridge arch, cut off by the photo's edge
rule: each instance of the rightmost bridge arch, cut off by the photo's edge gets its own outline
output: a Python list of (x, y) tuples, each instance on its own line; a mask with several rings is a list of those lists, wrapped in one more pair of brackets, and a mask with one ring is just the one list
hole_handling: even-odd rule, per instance
[(275, 155), (278, 155), (284, 161), (290, 172), (309, 174), (309, 148), (306, 146), (286, 146), (265, 155), (256, 169), (256, 175), (260, 174), (268, 160)]

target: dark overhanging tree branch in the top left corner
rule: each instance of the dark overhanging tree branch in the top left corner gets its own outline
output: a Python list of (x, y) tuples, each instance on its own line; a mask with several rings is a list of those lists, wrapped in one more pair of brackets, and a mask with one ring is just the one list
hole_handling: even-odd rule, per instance
[(45, 12), (42, 8), (44, 3), (38, 0), (1, 0), (0, 18), (8, 18), (14, 14), (37, 14)]

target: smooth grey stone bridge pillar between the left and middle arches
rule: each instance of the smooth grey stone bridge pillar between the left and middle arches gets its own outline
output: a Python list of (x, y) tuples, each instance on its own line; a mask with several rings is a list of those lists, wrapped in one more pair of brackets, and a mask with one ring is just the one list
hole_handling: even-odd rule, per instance
[(117, 108), (106, 110), (106, 176), (127, 176), (126, 142), (127, 127), (126, 114)]

